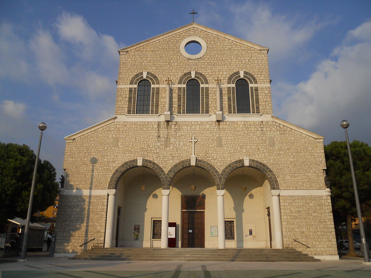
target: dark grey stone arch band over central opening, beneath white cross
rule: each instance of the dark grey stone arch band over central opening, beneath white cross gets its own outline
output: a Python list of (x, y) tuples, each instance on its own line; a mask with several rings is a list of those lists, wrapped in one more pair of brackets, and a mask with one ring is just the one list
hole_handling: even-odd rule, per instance
[[(181, 162), (178, 162), (173, 167), (170, 168), (170, 170), (167, 172), (167, 181), (165, 183), (165, 186), (163, 189), (170, 189), (170, 183), (173, 180), (176, 173), (178, 173), (180, 170), (184, 168), (191, 167), (191, 160), (185, 159)], [(201, 159), (196, 159), (196, 165), (195, 167), (202, 168), (210, 173), (211, 177), (214, 179), (216, 188), (219, 190), (220, 187), (220, 173), (219, 171), (211, 165), (209, 162), (206, 162)]]

